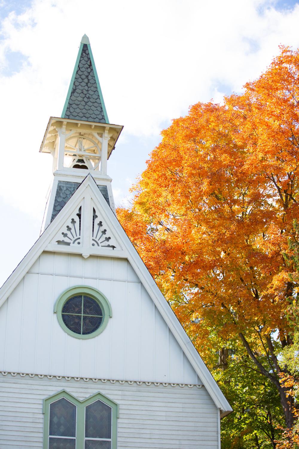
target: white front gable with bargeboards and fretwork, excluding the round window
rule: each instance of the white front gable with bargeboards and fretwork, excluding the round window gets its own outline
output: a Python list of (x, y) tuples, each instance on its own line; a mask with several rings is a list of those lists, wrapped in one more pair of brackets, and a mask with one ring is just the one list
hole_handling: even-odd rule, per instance
[[(79, 207), (80, 245), (74, 241), (69, 245), (59, 243), (59, 240), (67, 241), (62, 233), (70, 232), (67, 226), (71, 227)], [(104, 241), (98, 239), (100, 222), (99, 232), (106, 230), (102, 236)], [(106, 237), (110, 239), (105, 241)], [(113, 308), (107, 329), (98, 337), (84, 341), (56, 328), (57, 320), (53, 316), (57, 297), (66, 288), (78, 285), (78, 279), (79, 284), (102, 291)], [(5, 369), (17, 370), (19, 366), (20, 372), (22, 366), (28, 372), (33, 366), (34, 373), (43, 374), (38, 373), (38, 367), (44, 367), (45, 374), (62, 375), (57, 370), (63, 368), (68, 376), (78, 373), (78, 376), (92, 377), (84, 371), (91, 370), (92, 365), (94, 374), (105, 379), (125, 380), (122, 377), (126, 376), (128, 380), (148, 382), (169, 379), (166, 382), (202, 383), (222, 414), (231, 411), (91, 176), (82, 182), (0, 289), (1, 304), (5, 304), (0, 309), (2, 323), (6, 314), (8, 323), (7, 334), (3, 335), (7, 345), (0, 357)], [(13, 335), (15, 324), (9, 321), (10, 316), (22, 322), (17, 335)], [(48, 320), (47, 326), (43, 320)], [(41, 324), (35, 326), (35, 322)], [(26, 323), (31, 323), (28, 329)], [(4, 332), (1, 324), (0, 332)], [(21, 359), (18, 360), (10, 348), (13, 345), (15, 350), (17, 344), (23, 344), (24, 336), (26, 345), (19, 352)], [(76, 357), (78, 351), (80, 357)]]

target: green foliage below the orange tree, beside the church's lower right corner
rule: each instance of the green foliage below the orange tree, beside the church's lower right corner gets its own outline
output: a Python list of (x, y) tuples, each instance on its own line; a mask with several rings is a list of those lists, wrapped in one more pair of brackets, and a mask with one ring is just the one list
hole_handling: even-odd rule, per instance
[(222, 449), (276, 448), (283, 411), (273, 383), (257, 372), (247, 354), (234, 352), (225, 370), (214, 370), (234, 411), (221, 423)]

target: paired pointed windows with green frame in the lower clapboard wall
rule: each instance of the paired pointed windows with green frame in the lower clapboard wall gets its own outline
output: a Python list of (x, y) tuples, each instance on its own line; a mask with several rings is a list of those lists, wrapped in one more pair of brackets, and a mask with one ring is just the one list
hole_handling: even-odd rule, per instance
[(100, 392), (80, 401), (65, 390), (43, 401), (43, 449), (116, 449), (118, 405)]

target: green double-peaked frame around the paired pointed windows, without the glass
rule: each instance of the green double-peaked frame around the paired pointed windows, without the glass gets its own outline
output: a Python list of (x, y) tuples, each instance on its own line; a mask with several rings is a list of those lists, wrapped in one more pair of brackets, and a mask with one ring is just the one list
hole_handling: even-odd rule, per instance
[(62, 398), (65, 398), (76, 406), (76, 449), (84, 449), (85, 447), (85, 409), (87, 405), (90, 405), (95, 401), (102, 401), (105, 405), (108, 405), (111, 408), (111, 449), (117, 449), (117, 418), (119, 416), (119, 405), (100, 392), (88, 396), (81, 401), (66, 390), (61, 390), (43, 400), (43, 449), (48, 449), (49, 447), (50, 405)]

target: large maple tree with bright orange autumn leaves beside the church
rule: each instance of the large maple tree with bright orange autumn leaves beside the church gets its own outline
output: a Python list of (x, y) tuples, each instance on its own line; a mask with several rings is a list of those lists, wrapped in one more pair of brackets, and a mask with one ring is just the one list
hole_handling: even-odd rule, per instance
[(299, 50), (282, 47), (242, 95), (173, 120), (132, 207), (117, 210), (199, 352), (211, 333), (242, 344), (277, 387), (287, 428), (294, 401), (277, 354), (292, 344), (298, 289), (288, 245), (299, 222), (298, 76)]

